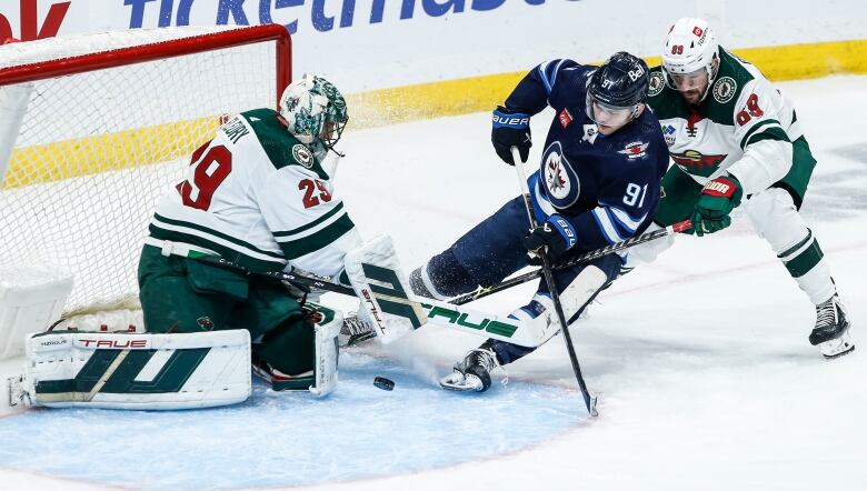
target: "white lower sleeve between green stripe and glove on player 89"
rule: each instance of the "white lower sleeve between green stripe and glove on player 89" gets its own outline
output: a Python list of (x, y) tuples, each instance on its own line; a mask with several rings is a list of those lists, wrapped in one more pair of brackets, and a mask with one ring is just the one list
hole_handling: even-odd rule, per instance
[(791, 169), (793, 148), (788, 141), (761, 140), (747, 146), (744, 157), (728, 172), (740, 181), (744, 194), (761, 192)]

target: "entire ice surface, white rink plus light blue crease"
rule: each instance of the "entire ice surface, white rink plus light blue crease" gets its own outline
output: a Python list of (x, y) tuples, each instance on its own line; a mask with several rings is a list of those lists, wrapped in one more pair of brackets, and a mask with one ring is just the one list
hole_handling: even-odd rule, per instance
[[(315, 480), (298, 480), (310, 465), (299, 459), (312, 451), (338, 462), (319, 468), (325, 473), (317, 489), (864, 490), (867, 78), (779, 86), (794, 99), (819, 162), (803, 212), (849, 308), (858, 347), (853, 354), (828, 362), (809, 345), (813, 305), (738, 216), (730, 229), (684, 237), (654, 264), (618, 280), (572, 329), (587, 383), (600, 393), (596, 420), (585, 419), (560, 337), (509, 365), (508, 387), (466, 398), (436, 389), (434, 380), (479, 338), (426, 327), (388, 350), (365, 348), (341, 360), (341, 382), (328, 401), (259, 389), (249, 404), (226, 410), (42, 411), (0, 420), (0, 488), (107, 485), (71, 473), (74, 463), (117, 472), (111, 482), (129, 488), (169, 485), (159, 480), (178, 475), (162, 474), (189, 469), (225, 475), (223, 467), (247, 480), (213, 485), (303, 485)], [(534, 119), (537, 142), (549, 118)], [(348, 131), (338, 190), (363, 236), (391, 233), (410, 270), (517, 194), (514, 171), (489, 139), (486, 113)], [(474, 308), (508, 312), (532, 288)], [(326, 300), (357, 307), (347, 298)], [(395, 391), (376, 389), (375, 375), (395, 380)], [(260, 431), (250, 443), (250, 427), (289, 427), (297, 412), (310, 415), (297, 438)], [(380, 414), (381, 422), (365, 415), (365, 424), (349, 430), (342, 421), (365, 412)], [(512, 412), (526, 423), (507, 433)], [(431, 419), (461, 431), (442, 430)], [(222, 438), (206, 440), (205, 429)], [(465, 429), (477, 429), (480, 438), (465, 439)], [(189, 435), (195, 438), (185, 441)], [(316, 438), (326, 435), (336, 443)], [(170, 452), (193, 453), (169, 461), (149, 452), (165, 442)], [(371, 457), (375, 451), (385, 457)], [(355, 460), (358, 454), (366, 457)], [(212, 465), (212, 459), (225, 460)], [(158, 461), (163, 468), (150, 472)], [(51, 475), (83, 481), (52, 482)]]

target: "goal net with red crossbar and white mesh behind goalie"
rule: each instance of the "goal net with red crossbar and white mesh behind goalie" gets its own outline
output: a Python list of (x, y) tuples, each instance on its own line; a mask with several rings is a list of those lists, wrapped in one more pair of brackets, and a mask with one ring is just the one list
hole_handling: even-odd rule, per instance
[(134, 298), (157, 200), (219, 124), (278, 107), (290, 57), (277, 24), (0, 47), (0, 283), (71, 274), (66, 311)]

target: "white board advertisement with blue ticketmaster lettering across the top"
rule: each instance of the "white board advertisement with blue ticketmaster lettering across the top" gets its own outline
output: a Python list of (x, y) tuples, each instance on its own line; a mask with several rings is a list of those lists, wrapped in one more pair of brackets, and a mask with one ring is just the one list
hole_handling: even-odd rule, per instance
[(296, 77), (323, 73), (365, 92), (524, 71), (552, 58), (658, 56), (685, 16), (708, 19), (731, 48), (864, 38), (866, 2), (835, 2), (838, 11), (821, 20), (814, 9), (781, 0), (4, 0), (0, 39), (280, 23), (293, 38)]

